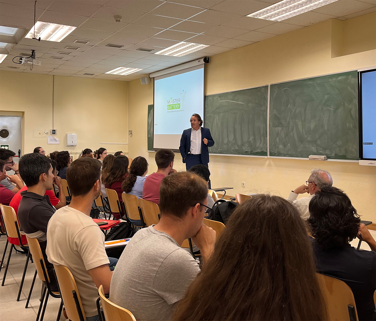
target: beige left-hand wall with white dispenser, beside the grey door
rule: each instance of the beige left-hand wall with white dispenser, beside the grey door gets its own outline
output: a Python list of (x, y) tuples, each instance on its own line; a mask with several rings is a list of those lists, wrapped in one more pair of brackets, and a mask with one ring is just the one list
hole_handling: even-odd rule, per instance
[[(82, 149), (105, 147), (108, 153), (128, 151), (128, 82), (55, 76), (54, 129), (60, 144), (33, 138), (33, 130), (52, 129), (53, 76), (0, 72), (2, 115), (24, 112), (23, 153), (42, 146), (47, 153), (68, 150), (76, 158)], [(14, 114), (14, 113), (13, 113)], [(77, 146), (65, 144), (65, 134), (77, 134)], [(116, 144), (100, 144), (116, 143)], [(124, 143), (124, 144), (119, 144)]]

